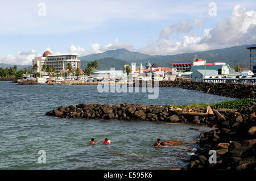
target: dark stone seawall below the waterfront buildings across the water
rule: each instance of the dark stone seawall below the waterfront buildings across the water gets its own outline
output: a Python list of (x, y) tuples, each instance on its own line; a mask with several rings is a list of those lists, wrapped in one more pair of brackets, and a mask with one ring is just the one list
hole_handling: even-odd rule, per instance
[(180, 87), (231, 98), (256, 98), (256, 86), (231, 83), (209, 83), (191, 81), (159, 81), (159, 87)]

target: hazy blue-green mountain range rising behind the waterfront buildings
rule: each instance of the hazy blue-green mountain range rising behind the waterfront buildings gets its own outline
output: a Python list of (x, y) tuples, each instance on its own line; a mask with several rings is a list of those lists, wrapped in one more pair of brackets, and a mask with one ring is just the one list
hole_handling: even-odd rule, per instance
[[(148, 55), (140, 52), (131, 52), (127, 49), (116, 49), (108, 50), (104, 53), (89, 54), (87, 56), (79, 57), (81, 60), (81, 69), (84, 70), (88, 62), (97, 60), (100, 68), (98, 70), (110, 70), (110, 68), (115, 68), (115, 70), (122, 70), (123, 65), (129, 64), (131, 62), (136, 62), (137, 65), (141, 63), (143, 65), (149, 61), (152, 64), (157, 66), (167, 66), (171, 67), (173, 63), (179, 62), (192, 62), (195, 55), (197, 58), (207, 60), (207, 62), (226, 62), (231, 67), (240, 65), (242, 68), (249, 67), (249, 50), (246, 47), (256, 47), (256, 44), (253, 45), (241, 45), (236, 47), (222, 48), (208, 50), (204, 52), (195, 52), (195, 53), (182, 53), (175, 55)], [(0, 67), (6, 68), (13, 65), (9, 64), (0, 64)], [(31, 65), (17, 65), (18, 69), (28, 68), (31, 69)]]

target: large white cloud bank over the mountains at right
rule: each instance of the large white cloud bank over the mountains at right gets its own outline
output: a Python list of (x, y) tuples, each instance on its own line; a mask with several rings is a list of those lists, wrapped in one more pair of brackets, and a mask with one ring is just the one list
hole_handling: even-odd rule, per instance
[[(256, 43), (256, 11), (246, 10), (241, 5), (233, 8), (232, 16), (218, 22), (214, 28), (206, 28), (203, 36), (191, 33), (193, 27), (202, 26), (203, 22), (195, 19), (193, 26), (183, 20), (180, 25), (173, 24), (160, 32), (160, 38), (141, 49), (147, 54), (177, 54), (205, 51)], [(180, 41), (172, 43), (170, 35), (187, 33)]]

